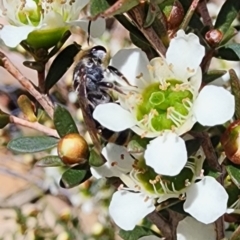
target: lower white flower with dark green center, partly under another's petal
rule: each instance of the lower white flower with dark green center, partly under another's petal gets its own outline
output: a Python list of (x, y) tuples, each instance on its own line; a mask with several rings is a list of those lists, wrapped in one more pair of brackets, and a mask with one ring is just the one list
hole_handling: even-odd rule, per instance
[(108, 143), (102, 154), (107, 162), (91, 167), (96, 178), (117, 176), (125, 184), (113, 194), (109, 213), (124, 230), (132, 230), (146, 215), (155, 210), (155, 201), (185, 196), (184, 210), (202, 223), (214, 222), (226, 212), (228, 195), (213, 178), (201, 173), (203, 156), (188, 160), (181, 173), (174, 177), (160, 176), (145, 164), (142, 156), (133, 159), (126, 149)]

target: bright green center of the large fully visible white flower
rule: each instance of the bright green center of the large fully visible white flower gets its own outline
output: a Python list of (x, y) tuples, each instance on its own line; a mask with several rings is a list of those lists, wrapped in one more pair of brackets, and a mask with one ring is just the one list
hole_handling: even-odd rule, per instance
[(180, 127), (191, 110), (193, 94), (189, 84), (168, 80), (166, 86), (154, 83), (141, 93), (137, 120), (150, 131)]

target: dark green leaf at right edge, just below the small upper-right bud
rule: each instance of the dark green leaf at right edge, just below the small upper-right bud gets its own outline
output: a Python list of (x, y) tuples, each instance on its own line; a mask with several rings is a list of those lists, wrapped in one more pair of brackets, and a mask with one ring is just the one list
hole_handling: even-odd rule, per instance
[(240, 60), (240, 44), (230, 43), (218, 49), (215, 53), (215, 57), (230, 60), (239, 61)]

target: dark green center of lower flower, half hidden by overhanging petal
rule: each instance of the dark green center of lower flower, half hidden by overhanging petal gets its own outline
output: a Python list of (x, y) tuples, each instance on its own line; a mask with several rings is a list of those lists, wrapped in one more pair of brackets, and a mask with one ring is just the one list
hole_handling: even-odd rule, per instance
[(138, 160), (134, 165), (132, 176), (138, 181), (141, 188), (149, 194), (161, 195), (176, 193), (188, 187), (194, 178), (195, 159), (190, 158), (182, 171), (173, 177), (160, 176), (145, 164), (144, 160)]

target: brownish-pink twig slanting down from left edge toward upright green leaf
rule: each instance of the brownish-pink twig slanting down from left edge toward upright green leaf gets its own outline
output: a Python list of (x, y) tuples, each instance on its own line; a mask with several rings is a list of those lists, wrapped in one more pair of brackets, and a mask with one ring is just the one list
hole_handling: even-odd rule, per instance
[(2, 52), (0, 52), (0, 64), (19, 81), (19, 83), (41, 104), (47, 114), (53, 118), (53, 104), (48, 96), (38, 92), (32, 82), (26, 78)]

